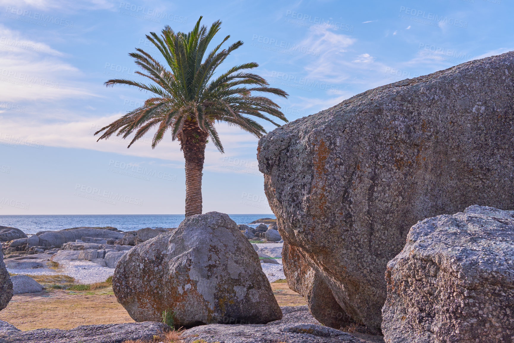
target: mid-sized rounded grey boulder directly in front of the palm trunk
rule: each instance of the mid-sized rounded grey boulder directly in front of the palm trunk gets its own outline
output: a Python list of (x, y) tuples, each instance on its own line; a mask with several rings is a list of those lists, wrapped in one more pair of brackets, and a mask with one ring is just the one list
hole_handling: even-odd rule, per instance
[(134, 320), (161, 320), (168, 311), (176, 328), (282, 317), (257, 253), (218, 212), (189, 216), (136, 245), (118, 262), (113, 290)]

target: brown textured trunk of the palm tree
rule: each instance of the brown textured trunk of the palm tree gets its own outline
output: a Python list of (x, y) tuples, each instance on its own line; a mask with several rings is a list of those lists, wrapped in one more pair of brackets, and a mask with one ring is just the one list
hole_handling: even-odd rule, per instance
[(186, 159), (186, 216), (190, 216), (201, 214), (201, 177), (208, 135), (196, 123), (185, 124), (183, 133), (180, 143)]

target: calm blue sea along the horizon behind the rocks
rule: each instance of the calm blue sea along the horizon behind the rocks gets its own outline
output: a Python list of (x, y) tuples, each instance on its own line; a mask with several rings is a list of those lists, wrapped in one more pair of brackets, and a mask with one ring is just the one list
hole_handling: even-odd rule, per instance
[[(236, 224), (248, 224), (259, 218), (275, 218), (273, 214), (229, 214), (229, 216)], [(16, 227), (25, 233), (79, 226), (114, 226), (118, 230), (128, 231), (144, 227), (177, 227), (184, 218), (183, 214), (0, 215), (0, 225)]]

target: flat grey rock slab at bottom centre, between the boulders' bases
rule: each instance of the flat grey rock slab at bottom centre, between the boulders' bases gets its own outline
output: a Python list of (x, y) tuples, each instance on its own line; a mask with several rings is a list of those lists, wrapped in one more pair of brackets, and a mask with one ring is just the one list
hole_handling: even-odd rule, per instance
[[(209, 343), (380, 343), (381, 336), (348, 334), (321, 326), (307, 311), (307, 306), (282, 306), (281, 320), (267, 324), (237, 324), (226, 318), (226, 324), (210, 324), (186, 330), (182, 337), (186, 343), (203, 339)], [(232, 321), (231, 321), (232, 320)]]

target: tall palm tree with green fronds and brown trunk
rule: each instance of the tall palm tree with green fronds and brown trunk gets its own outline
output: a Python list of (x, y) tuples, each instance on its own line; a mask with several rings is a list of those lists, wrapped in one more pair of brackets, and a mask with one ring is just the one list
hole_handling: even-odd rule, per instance
[(116, 132), (117, 136), (123, 138), (134, 133), (127, 147), (130, 148), (145, 133), (156, 129), (152, 141), (152, 148), (155, 148), (166, 131), (171, 131), (172, 140), (178, 139), (186, 160), (186, 216), (200, 214), (202, 210), (201, 178), (209, 139), (221, 153), (224, 152), (215, 122), (235, 125), (256, 137), (262, 137), (266, 130), (248, 116), (267, 120), (277, 127), (280, 124), (265, 114), (287, 122), (279, 105), (263, 95), (254, 95), (269, 93), (284, 98), (288, 96), (282, 89), (269, 87), (268, 82), (259, 75), (246, 71), (258, 67), (257, 63), (236, 65), (214, 78), (216, 68), (243, 42), (237, 41), (219, 50), (230, 38), (227, 35), (204, 58), (209, 43), (221, 27), (221, 21), (214, 22), (207, 30), (204, 25), (200, 27), (201, 18), (189, 33), (174, 32), (166, 26), (160, 37), (155, 32), (146, 35), (159, 49), (169, 69), (142, 49), (130, 53), (129, 56), (143, 70), (136, 73), (152, 82), (147, 84), (114, 79), (108, 80), (105, 85), (135, 86), (151, 92), (153, 97), (95, 133), (103, 132), (98, 140)]

